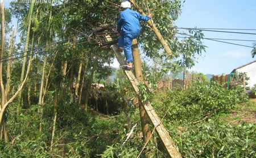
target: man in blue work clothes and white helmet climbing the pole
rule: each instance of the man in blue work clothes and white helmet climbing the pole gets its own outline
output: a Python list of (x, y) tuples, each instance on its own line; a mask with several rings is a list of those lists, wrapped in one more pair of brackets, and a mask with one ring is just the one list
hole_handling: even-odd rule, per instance
[(139, 12), (130, 9), (131, 3), (123, 1), (121, 3), (122, 11), (119, 13), (117, 21), (117, 32), (119, 35), (118, 48), (124, 50), (127, 65), (121, 67), (125, 70), (131, 70), (133, 67), (133, 54), (131, 52), (131, 42), (136, 39), (141, 32), (139, 21), (147, 21), (152, 15), (143, 16)]

